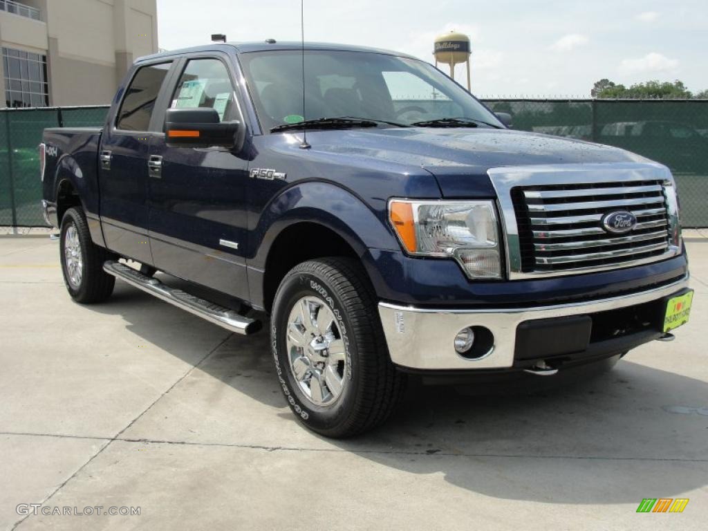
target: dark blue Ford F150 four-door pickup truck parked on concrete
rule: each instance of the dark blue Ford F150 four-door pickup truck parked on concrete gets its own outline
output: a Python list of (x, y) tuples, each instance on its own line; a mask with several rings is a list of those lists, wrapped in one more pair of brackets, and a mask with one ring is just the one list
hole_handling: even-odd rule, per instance
[(413, 57), (303, 46), (143, 57), (102, 129), (45, 130), (76, 302), (119, 278), (268, 323), (282, 392), (331, 437), (384, 421), (411, 372), (554, 375), (687, 321), (666, 166), (509, 130)]

